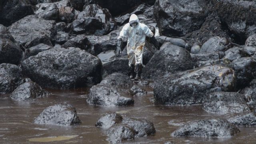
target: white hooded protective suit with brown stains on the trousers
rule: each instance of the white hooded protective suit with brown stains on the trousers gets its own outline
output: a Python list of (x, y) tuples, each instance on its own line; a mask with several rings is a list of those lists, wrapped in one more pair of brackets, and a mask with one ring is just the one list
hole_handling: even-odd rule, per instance
[[(137, 26), (130, 26), (131, 21), (138, 22)], [(142, 53), (144, 50), (146, 36), (152, 37), (154, 36), (153, 32), (146, 26), (146, 24), (142, 24), (139, 22), (138, 16), (132, 14), (130, 16), (129, 23), (124, 25), (122, 28), (119, 38), (127, 41), (127, 54), (129, 59), (129, 66), (132, 64), (142, 64)]]

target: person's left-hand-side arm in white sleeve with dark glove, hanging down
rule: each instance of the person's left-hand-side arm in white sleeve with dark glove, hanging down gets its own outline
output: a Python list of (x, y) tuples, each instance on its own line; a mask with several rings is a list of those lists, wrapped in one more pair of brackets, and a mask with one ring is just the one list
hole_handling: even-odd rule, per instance
[(116, 44), (116, 56), (120, 56), (120, 54), (122, 54), (122, 43), (124, 40), (127, 39), (127, 24), (122, 28), (118, 38), (117, 38), (117, 44)]

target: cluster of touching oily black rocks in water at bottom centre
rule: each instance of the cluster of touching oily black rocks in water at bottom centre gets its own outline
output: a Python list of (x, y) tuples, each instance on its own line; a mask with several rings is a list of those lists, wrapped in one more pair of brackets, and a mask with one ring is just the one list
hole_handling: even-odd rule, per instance
[(148, 120), (122, 117), (116, 113), (104, 114), (95, 126), (108, 129), (106, 135), (112, 144), (156, 133), (154, 124)]

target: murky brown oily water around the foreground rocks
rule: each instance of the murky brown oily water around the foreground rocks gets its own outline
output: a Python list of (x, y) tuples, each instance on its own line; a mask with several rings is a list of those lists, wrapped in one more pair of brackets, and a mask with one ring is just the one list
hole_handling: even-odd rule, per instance
[[(149, 89), (148, 89), (149, 90)], [(108, 144), (106, 136), (94, 124), (106, 112), (118, 112), (133, 118), (146, 118), (154, 123), (156, 134), (126, 141), (127, 144), (163, 144), (172, 141), (175, 144), (256, 144), (256, 127), (239, 127), (241, 132), (231, 138), (172, 137), (170, 134), (184, 122), (203, 118), (217, 118), (201, 106), (155, 106), (151, 100), (153, 92), (147, 96), (135, 97), (134, 106), (105, 107), (92, 106), (86, 102), (88, 88), (77, 90), (51, 90), (47, 98), (30, 102), (20, 102), (0, 96), (0, 144), (8, 143), (78, 143)], [(58, 103), (70, 103), (76, 107), (82, 120), (79, 126), (52, 126), (33, 124), (33, 120), (48, 106)], [(46, 138), (50, 137), (50, 138)], [(60, 141), (61, 140), (61, 141)]]

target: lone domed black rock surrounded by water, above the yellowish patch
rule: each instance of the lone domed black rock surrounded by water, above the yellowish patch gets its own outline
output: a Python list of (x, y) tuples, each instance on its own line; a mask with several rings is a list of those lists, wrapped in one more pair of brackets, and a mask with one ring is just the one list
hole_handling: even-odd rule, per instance
[(35, 124), (76, 125), (81, 121), (70, 104), (49, 106), (34, 120)]

